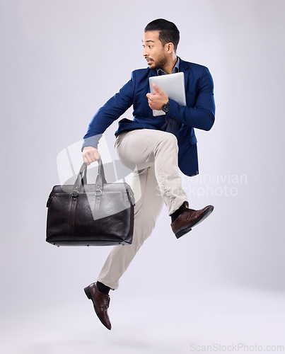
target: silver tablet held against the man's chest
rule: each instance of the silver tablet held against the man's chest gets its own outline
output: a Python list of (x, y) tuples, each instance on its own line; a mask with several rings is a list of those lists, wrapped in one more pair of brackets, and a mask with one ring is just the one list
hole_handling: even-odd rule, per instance
[[(151, 76), (149, 78), (149, 88), (154, 93), (153, 84), (164, 91), (168, 98), (176, 101), (180, 105), (186, 105), (184, 72), (167, 74), (161, 76)], [(153, 110), (153, 116), (164, 115), (163, 110)]]

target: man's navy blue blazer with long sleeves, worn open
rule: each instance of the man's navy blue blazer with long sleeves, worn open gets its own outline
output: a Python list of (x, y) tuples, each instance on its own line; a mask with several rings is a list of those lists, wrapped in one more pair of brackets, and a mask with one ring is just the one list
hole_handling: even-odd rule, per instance
[(194, 176), (199, 173), (197, 139), (194, 128), (210, 130), (215, 120), (214, 83), (207, 67), (180, 59), (180, 72), (185, 76), (187, 105), (179, 105), (170, 99), (167, 115), (153, 117), (146, 93), (149, 93), (149, 77), (157, 76), (156, 69), (138, 69), (118, 93), (108, 100), (93, 116), (86, 135), (85, 146), (98, 147), (98, 140), (114, 120), (133, 105), (134, 120), (120, 120), (117, 136), (124, 130), (141, 128), (161, 130), (165, 118), (174, 118), (182, 123), (176, 134), (178, 139), (178, 166), (182, 173)]

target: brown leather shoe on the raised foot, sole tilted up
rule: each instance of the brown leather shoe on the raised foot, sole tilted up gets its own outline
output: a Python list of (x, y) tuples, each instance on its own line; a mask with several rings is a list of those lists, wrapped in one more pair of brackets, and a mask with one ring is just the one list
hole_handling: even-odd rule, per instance
[(182, 209), (178, 218), (171, 224), (175, 236), (179, 239), (182, 235), (192, 230), (192, 227), (209, 217), (214, 210), (213, 205), (208, 205), (201, 210)]

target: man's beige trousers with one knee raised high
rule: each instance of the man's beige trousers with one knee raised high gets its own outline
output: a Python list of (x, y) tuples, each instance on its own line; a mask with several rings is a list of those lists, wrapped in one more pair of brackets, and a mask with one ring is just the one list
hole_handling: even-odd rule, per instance
[(119, 287), (119, 279), (151, 235), (161, 213), (163, 202), (168, 215), (177, 210), (187, 195), (178, 174), (178, 142), (175, 135), (161, 130), (140, 129), (121, 133), (115, 149), (122, 163), (136, 167), (132, 171), (134, 191), (134, 236), (132, 245), (114, 246), (98, 277), (111, 289)]

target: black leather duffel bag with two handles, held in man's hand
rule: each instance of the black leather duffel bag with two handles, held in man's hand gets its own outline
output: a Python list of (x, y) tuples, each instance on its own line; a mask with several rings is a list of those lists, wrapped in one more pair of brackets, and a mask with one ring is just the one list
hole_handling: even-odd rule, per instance
[(134, 193), (127, 183), (107, 183), (102, 160), (95, 184), (82, 164), (74, 185), (54, 185), (47, 200), (47, 239), (57, 246), (132, 244)]

